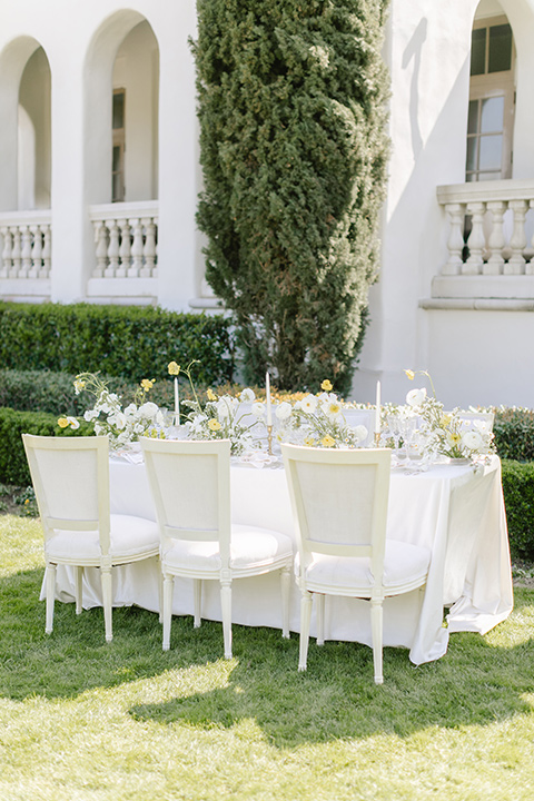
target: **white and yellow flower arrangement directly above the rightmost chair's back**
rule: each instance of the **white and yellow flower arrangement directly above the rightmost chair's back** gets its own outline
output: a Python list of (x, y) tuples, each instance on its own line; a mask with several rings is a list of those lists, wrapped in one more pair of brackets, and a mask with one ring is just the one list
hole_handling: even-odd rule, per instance
[(343, 402), (325, 379), (319, 395), (308, 394), (294, 406), (283, 402), (275, 411), (277, 439), (308, 447), (358, 447), (367, 437), (363, 425), (352, 427), (343, 414)]

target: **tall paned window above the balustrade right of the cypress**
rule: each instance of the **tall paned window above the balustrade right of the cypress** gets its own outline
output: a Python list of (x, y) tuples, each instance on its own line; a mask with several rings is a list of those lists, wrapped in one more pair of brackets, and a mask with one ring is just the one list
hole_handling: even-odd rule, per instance
[(506, 18), (475, 21), (471, 48), (466, 180), (512, 176), (514, 43)]

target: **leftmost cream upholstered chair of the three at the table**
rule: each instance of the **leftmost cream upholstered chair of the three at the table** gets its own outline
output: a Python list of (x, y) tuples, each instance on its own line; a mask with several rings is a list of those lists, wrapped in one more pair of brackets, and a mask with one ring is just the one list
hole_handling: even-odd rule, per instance
[(108, 437), (23, 434), (22, 439), (44, 532), (47, 634), (53, 626), (57, 565), (75, 568), (77, 614), (83, 567), (99, 567), (106, 641), (111, 642), (111, 567), (157, 558), (158, 526), (142, 517), (110, 514)]

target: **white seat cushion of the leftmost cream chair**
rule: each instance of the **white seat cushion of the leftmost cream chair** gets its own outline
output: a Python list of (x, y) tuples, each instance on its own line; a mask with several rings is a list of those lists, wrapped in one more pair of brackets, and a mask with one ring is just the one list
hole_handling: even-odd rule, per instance
[[(115, 514), (110, 520), (109, 553), (113, 558), (138, 558), (146, 552), (159, 548), (159, 530), (154, 521)], [(101, 556), (98, 532), (57, 531), (46, 542), (44, 552), (51, 561), (76, 564), (77, 560), (93, 560), (98, 563)]]

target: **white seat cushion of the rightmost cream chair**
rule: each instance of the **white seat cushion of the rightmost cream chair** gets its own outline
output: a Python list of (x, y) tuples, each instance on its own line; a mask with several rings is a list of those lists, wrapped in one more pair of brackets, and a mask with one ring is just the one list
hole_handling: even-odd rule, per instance
[[(295, 571), (298, 574), (298, 556)], [(428, 572), (431, 552), (411, 543), (386, 540), (384, 557), (384, 586), (395, 589), (400, 584), (423, 581)], [(338, 587), (367, 589), (374, 584), (370, 560), (359, 556), (328, 556), (314, 554), (306, 568), (306, 582)]]

